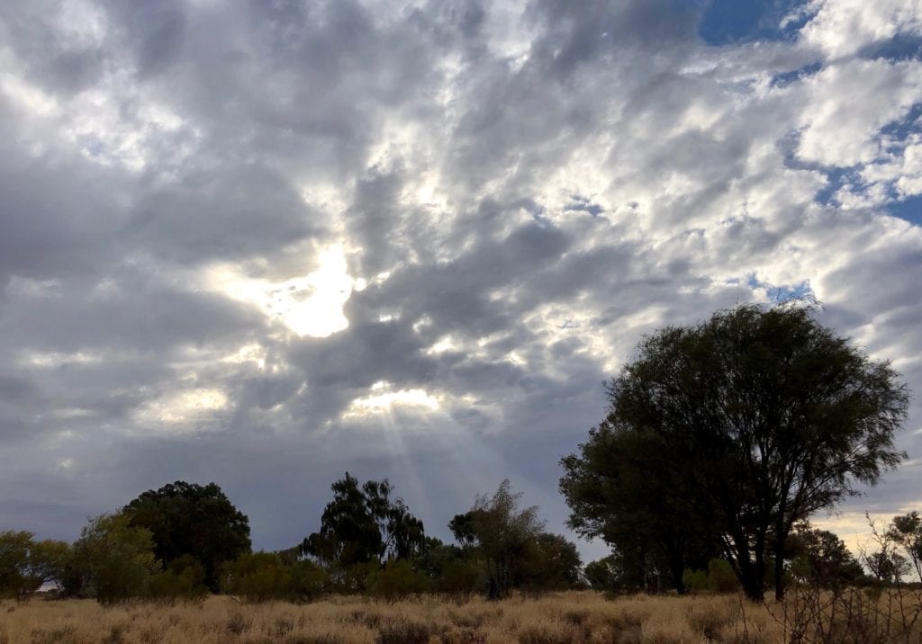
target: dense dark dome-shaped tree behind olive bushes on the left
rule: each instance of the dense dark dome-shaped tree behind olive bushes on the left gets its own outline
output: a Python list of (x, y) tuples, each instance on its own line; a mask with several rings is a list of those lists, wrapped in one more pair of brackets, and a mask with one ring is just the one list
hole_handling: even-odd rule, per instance
[(176, 481), (141, 494), (122, 512), (132, 526), (150, 532), (154, 553), (168, 568), (195, 557), (211, 591), (218, 591), (221, 564), (250, 551), (249, 520), (214, 483)]

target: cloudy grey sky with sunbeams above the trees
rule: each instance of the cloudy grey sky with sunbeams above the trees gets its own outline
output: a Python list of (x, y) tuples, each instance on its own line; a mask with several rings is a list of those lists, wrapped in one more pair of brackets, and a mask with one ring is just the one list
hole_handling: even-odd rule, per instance
[(816, 522), (922, 510), (919, 0), (0, 0), (0, 195), (0, 530), (213, 481), (278, 549), (349, 471), (574, 538), (642, 336), (792, 294), (916, 392)]

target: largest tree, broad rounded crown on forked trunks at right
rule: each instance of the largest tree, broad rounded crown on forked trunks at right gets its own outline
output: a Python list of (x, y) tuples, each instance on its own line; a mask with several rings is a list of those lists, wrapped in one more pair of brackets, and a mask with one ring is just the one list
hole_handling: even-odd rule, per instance
[[(908, 404), (897, 374), (799, 303), (663, 328), (608, 393), (606, 431), (659, 445), (656, 472), (673, 472), (694, 514), (714, 522), (752, 600), (762, 600), (768, 544), (780, 599), (793, 525), (857, 494), (857, 484), (876, 484), (904, 457), (893, 446)], [(608, 462), (586, 462), (585, 446), (582, 461), (583, 475), (612, 475)]]

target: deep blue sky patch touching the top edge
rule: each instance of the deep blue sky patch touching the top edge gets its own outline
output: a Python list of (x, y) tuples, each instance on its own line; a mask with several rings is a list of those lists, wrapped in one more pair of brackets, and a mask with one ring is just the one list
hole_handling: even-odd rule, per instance
[[(705, 0), (698, 35), (709, 45), (793, 41), (810, 19), (806, 0)], [(796, 16), (782, 21), (790, 16)]]

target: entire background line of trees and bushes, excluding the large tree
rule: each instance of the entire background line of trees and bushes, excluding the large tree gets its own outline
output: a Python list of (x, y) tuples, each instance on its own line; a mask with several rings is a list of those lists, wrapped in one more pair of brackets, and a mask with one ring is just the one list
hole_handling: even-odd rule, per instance
[[(118, 603), (222, 592), (249, 602), (310, 602), (334, 593), (499, 599), (514, 590), (675, 588), (668, 562), (643, 553), (615, 551), (584, 568), (573, 543), (545, 531), (536, 507), (520, 507), (521, 495), (508, 480), (455, 515), (448, 524), (452, 544), (426, 536), (386, 479), (359, 486), (347, 473), (332, 489), (320, 530), (278, 552), (251, 550), (249, 521), (219, 486), (182, 481), (91, 519), (73, 544), (0, 533), (0, 595), (22, 600), (44, 589), (55, 597)], [(785, 585), (898, 585), (922, 574), (918, 512), (894, 517), (874, 534), (876, 549), (863, 551), (859, 561), (835, 534), (799, 523), (786, 544)], [(698, 568), (682, 571), (683, 591), (739, 591), (735, 571), (716, 548), (699, 554)]]

